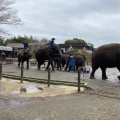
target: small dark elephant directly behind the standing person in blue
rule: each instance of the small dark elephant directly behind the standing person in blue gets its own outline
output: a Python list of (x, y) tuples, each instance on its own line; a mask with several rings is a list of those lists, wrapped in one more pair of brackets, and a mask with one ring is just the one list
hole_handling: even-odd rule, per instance
[[(71, 55), (70, 55), (71, 56)], [(69, 59), (70, 56), (67, 57), (66, 59), (66, 67), (65, 67), (65, 71), (67, 70), (67, 68), (69, 67)], [(75, 59), (75, 70), (78, 70), (79, 67), (85, 67), (85, 62), (84, 62), (84, 58), (81, 55), (73, 55), (73, 58)]]

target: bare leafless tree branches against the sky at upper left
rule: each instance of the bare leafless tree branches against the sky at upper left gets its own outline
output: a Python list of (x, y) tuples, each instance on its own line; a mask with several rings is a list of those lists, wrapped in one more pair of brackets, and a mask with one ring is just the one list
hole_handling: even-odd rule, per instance
[[(11, 9), (11, 5), (15, 3), (15, 0), (0, 0), (0, 26), (10, 25), (18, 26), (22, 25), (20, 18), (18, 18), (16, 9)], [(7, 32), (0, 27), (0, 33), (7, 34)]]

